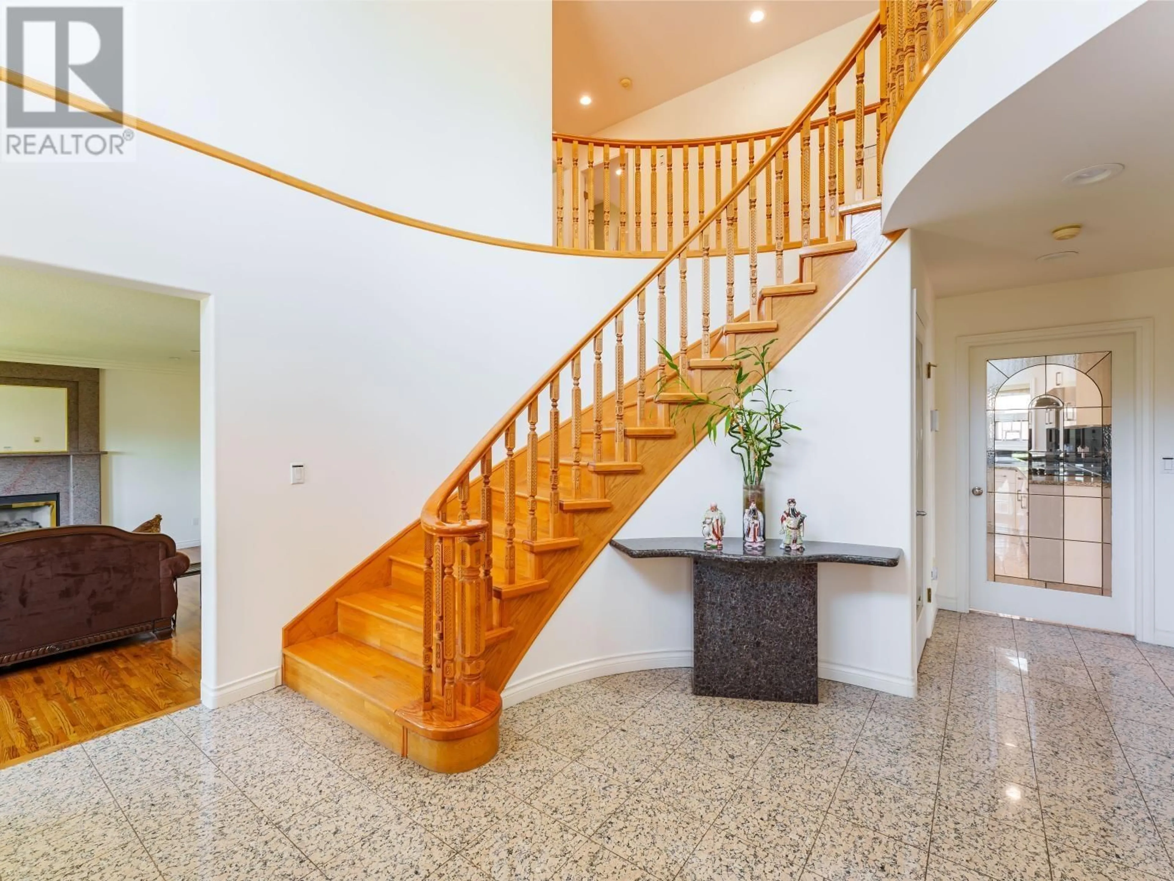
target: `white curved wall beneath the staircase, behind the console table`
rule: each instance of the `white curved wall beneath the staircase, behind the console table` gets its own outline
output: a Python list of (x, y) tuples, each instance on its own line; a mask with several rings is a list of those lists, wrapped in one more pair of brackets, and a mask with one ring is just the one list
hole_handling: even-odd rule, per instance
[[(910, 244), (903, 236), (771, 374), (791, 389), (792, 432), (767, 477), (767, 517), (789, 496), (808, 538), (899, 547), (896, 569), (819, 566), (819, 675), (911, 694), (913, 678), (912, 332)], [(851, 352), (850, 356), (845, 352)], [(620, 530), (626, 538), (700, 534), (717, 502), (741, 517), (741, 470), (722, 443), (689, 453)], [(620, 670), (689, 664), (687, 560), (630, 560), (607, 549), (511, 679), (517, 701)]]

